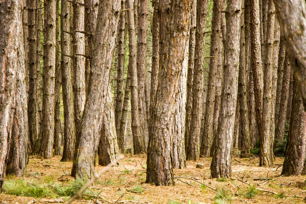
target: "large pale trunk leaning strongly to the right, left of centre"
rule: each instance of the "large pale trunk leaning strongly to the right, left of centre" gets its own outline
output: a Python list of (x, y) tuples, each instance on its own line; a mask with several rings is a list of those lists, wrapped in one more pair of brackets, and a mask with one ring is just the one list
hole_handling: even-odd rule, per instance
[(115, 37), (120, 14), (120, 1), (99, 2), (97, 25), (91, 54), (91, 77), (84, 110), (80, 143), (73, 159), (71, 174), (81, 179), (94, 175), (94, 158), (99, 142), (99, 121), (104, 111), (109, 84)]

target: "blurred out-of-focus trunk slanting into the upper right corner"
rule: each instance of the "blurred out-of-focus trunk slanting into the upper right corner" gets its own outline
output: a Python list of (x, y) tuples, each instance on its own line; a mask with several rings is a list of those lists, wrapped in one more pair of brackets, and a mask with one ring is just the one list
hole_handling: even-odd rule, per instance
[(286, 39), (286, 52), (290, 59), (295, 82), (300, 90), (304, 109), (306, 110), (306, 17), (303, 15), (306, 2), (302, 0), (274, 0), (281, 34)]

